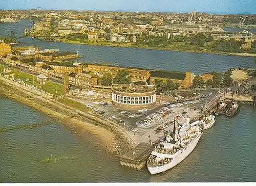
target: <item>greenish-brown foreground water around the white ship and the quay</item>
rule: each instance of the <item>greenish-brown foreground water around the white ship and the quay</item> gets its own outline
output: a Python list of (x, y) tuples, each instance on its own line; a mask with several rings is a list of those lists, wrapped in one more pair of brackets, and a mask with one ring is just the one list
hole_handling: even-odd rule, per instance
[[(6, 118), (0, 120), (0, 126), (19, 124), (17, 118), (26, 123), (49, 119), (5, 97), (0, 99), (0, 105), (0, 116)], [(23, 117), (24, 112), (28, 117)], [(10, 117), (12, 113), (16, 113), (15, 117)], [(255, 113), (251, 105), (241, 105), (236, 117), (217, 117), (216, 124), (204, 132), (195, 150), (182, 163), (154, 176), (146, 168), (135, 171), (120, 167), (118, 158), (106, 153), (93, 136), (85, 134), (80, 138), (58, 123), (1, 133), (0, 182), (256, 181)], [(50, 154), (81, 158), (39, 163)]]

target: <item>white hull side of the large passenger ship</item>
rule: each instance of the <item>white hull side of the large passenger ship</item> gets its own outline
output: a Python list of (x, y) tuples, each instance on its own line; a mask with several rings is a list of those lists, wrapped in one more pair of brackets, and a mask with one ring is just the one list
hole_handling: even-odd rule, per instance
[(184, 149), (184, 151), (180, 155), (177, 155), (179, 157), (174, 158), (174, 160), (172, 160), (172, 162), (170, 162), (169, 164), (166, 164), (164, 166), (158, 166), (158, 167), (148, 167), (147, 166), (147, 170), (152, 175), (154, 175), (154, 174), (159, 174), (161, 172), (165, 172), (169, 169), (172, 169), (173, 167), (175, 167), (176, 165), (181, 163), (195, 149), (202, 134), (203, 134), (203, 132), (201, 132), (201, 134), (192, 141), (193, 143), (190, 142), (189, 145), (187, 145), (188, 148)]

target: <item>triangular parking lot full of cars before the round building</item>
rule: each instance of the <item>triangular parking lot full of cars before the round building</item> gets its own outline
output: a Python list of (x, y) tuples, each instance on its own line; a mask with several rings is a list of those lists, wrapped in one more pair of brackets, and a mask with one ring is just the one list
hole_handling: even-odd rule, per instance
[[(158, 107), (153, 109), (144, 109), (140, 111), (124, 111), (120, 110), (111, 103), (101, 103), (86, 100), (77, 101), (86, 104), (92, 112), (98, 114), (105, 119), (108, 119), (128, 131), (136, 132), (137, 135), (143, 136), (148, 132), (154, 132), (158, 127), (170, 129), (170, 124), (174, 120), (174, 116), (181, 115), (186, 106), (191, 105), (198, 101), (173, 103), (173, 104), (159, 104)], [(180, 120), (177, 118), (176, 121)], [(178, 121), (179, 122), (179, 121)]]

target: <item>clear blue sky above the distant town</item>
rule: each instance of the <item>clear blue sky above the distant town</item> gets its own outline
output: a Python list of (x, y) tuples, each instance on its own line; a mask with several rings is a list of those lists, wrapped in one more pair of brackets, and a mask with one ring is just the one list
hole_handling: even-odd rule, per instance
[(0, 0), (0, 9), (256, 14), (255, 0)]

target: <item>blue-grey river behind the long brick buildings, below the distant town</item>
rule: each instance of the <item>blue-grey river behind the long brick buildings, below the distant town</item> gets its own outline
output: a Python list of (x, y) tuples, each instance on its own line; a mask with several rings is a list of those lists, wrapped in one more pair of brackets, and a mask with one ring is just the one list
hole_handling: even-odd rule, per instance
[[(10, 30), (19, 36), (25, 28), (30, 28), (32, 21), (22, 20), (17, 23), (0, 24), (0, 36), (10, 35)], [(191, 52), (151, 50), (140, 48), (122, 48), (110, 46), (68, 44), (46, 42), (30, 37), (20, 38), (20, 45), (37, 45), (41, 49), (59, 48), (60, 51), (79, 51), (82, 63), (119, 64), (122, 66), (144, 67), (152, 69), (191, 71), (202, 74), (209, 71), (223, 72), (230, 68), (255, 68), (252, 57), (224, 56)]]

